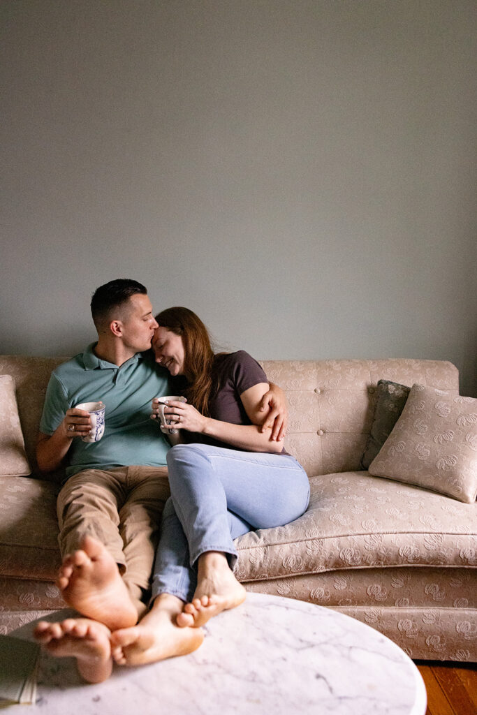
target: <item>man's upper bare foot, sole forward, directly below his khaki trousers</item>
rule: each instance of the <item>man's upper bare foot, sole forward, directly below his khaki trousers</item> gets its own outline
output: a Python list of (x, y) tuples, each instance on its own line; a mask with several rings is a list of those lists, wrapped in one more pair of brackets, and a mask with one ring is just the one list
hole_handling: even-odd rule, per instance
[(79, 551), (65, 556), (56, 581), (69, 606), (112, 631), (137, 623), (137, 608), (116, 561), (102, 543), (85, 536)]

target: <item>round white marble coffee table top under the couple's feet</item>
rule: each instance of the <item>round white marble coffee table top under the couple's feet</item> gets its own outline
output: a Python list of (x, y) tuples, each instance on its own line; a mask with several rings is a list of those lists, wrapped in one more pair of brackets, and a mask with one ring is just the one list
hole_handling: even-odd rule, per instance
[(36, 711), (425, 715), (426, 689), (408, 656), (364, 623), (311, 603), (250, 593), (240, 608), (207, 623), (195, 653), (117, 667), (99, 685), (82, 684), (71, 659), (43, 654), (36, 705), (21, 707), (25, 715)]

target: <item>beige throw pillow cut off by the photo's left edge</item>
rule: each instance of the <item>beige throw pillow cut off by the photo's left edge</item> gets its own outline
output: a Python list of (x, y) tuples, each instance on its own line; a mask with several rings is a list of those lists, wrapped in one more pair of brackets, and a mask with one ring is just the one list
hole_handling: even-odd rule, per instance
[(0, 476), (22, 477), (30, 473), (14, 379), (11, 375), (0, 375)]

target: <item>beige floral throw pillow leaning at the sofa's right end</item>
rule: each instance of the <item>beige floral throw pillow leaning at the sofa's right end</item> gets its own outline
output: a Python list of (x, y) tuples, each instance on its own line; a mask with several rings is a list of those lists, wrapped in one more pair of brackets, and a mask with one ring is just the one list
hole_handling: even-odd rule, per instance
[(369, 473), (476, 501), (477, 399), (413, 385)]

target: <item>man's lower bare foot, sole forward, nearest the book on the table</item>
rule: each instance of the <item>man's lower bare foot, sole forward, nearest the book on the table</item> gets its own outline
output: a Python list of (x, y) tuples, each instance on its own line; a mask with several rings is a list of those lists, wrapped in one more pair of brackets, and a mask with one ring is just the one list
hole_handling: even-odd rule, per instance
[(111, 632), (102, 623), (89, 618), (40, 621), (34, 636), (52, 656), (76, 658), (80, 674), (89, 683), (102, 683), (111, 675)]

